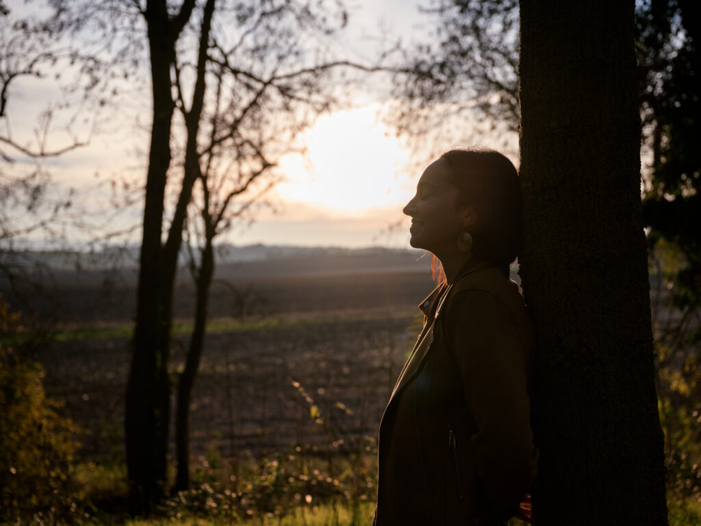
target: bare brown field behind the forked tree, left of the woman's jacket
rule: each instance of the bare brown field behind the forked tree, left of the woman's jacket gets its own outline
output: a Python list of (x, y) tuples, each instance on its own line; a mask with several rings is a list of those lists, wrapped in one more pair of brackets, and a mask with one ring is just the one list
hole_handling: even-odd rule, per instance
[[(416, 304), (432, 287), (423, 273), (257, 283), (260, 297), (274, 299), (264, 303), (265, 319), (280, 323), (207, 334), (191, 405), (193, 455), (212, 448), (225, 457), (257, 455), (296, 445), (372, 449), (390, 390), (420, 329)], [(85, 309), (85, 298), (78, 304)], [(226, 315), (223, 303), (215, 299), (214, 305), (214, 316)], [(174, 337), (174, 378), (187, 337)], [(57, 341), (39, 359), (48, 394), (62, 400), (85, 430), (83, 456), (122, 457), (128, 339)]]

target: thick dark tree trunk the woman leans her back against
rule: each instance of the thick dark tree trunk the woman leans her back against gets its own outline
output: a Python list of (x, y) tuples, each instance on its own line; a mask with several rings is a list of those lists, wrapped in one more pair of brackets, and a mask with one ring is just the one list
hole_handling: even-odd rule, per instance
[(534, 524), (665, 525), (634, 2), (522, 0), (520, 9)]

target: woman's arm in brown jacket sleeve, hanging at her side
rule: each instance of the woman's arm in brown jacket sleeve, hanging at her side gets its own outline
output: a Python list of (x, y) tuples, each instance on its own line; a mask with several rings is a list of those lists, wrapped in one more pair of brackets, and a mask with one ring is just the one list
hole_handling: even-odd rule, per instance
[(524, 343), (500, 299), (464, 290), (446, 312), (447, 337), (456, 354), (465, 400), (475, 416), (471, 437), (489, 519), (516, 513), (536, 471), (529, 419)]

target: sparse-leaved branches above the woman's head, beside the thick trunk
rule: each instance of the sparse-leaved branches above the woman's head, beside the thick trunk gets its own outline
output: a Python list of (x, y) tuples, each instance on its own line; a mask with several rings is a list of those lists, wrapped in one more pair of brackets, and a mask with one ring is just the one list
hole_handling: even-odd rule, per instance
[(430, 40), (388, 51), (397, 69), (393, 126), (419, 144), (427, 137), (444, 144), (447, 137), (482, 142), (515, 135), (517, 0), (433, 0), (420, 9), (433, 20)]

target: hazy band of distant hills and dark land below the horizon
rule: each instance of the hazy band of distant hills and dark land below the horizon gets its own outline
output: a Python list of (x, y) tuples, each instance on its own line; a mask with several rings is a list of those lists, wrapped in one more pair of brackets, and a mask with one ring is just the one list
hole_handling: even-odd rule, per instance
[[(50, 267), (41, 293), (32, 288), (0, 292), (18, 309), (60, 323), (128, 323), (135, 313), (135, 254), (135, 249), (25, 252), (15, 256), (23, 264)], [(241, 298), (247, 311), (257, 314), (379, 307), (414, 311), (435, 286), (429, 267), (423, 250), (229, 246), (217, 252), (210, 315), (232, 316)], [(174, 291), (175, 317), (191, 318), (194, 299), (192, 278), (182, 266)]]

